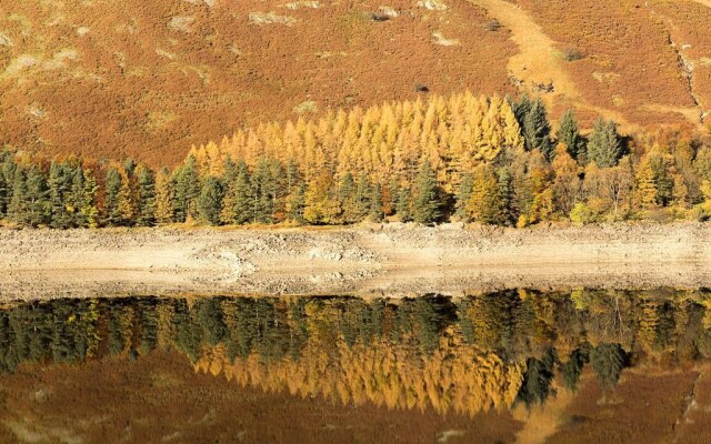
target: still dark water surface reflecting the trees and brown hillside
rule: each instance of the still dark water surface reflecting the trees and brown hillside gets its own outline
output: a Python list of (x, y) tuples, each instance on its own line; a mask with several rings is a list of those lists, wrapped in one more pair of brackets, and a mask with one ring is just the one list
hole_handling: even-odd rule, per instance
[(0, 310), (1, 442), (711, 442), (711, 291)]

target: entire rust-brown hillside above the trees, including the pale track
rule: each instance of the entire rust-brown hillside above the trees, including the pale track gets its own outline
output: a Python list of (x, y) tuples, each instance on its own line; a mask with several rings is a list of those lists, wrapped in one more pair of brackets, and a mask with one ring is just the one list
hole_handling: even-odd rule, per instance
[(0, 4), (0, 143), (173, 164), (263, 121), (471, 90), (700, 127), (708, 0)]

